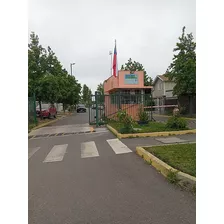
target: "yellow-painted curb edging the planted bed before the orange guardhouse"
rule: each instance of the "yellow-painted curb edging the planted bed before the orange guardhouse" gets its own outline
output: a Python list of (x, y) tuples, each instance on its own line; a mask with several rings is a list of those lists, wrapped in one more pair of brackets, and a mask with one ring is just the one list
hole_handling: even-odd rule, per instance
[(163, 132), (149, 132), (149, 133), (134, 133), (134, 134), (121, 134), (116, 129), (107, 125), (107, 128), (118, 138), (139, 138), (139, 137), (158, 137), (158, 136), (170, 136), (170, 135), (185, 135), (195, 134), (196, 129), (182, 130), (182, 131), (163, 131)]

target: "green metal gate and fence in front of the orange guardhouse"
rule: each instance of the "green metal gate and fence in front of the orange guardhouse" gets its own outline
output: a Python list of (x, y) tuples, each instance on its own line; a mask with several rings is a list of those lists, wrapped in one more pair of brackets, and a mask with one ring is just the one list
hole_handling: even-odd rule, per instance
[(151, 94), (101, 95), (99, 92), (95, 92), (95, 95), (91, 96), (89, 105), (89, 123), (100, 126), (110, 120), (116, 120), (119, 110), (125, 110), (134, 120), (138, 120), (138, 112), (142, 107), (148, 112), (149, 119), (153, 120), (152, 110), (154, 109), (152, 106), (154, 105)]

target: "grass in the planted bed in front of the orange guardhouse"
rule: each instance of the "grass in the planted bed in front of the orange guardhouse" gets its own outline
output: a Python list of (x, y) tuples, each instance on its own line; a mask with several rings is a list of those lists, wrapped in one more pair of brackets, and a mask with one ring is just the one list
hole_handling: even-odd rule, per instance
[[(119, 122), (112, 122), (109, 125), (115, 128), (118, 132), (120, 132), (123, 125)], [(137, 123), (134, 124), (134, 128), (139, 128), (140, 130), (136, 130), (136, 133), (148, 133), (148, 132), (162, 132), (162, 131), (179, 131), (179, 130), (188, 130), (185, 129), (174, 129), (174, 128), (167, 128), (165, 123), (154, 122), (150, 121), (148, 125), (138, 125)]]

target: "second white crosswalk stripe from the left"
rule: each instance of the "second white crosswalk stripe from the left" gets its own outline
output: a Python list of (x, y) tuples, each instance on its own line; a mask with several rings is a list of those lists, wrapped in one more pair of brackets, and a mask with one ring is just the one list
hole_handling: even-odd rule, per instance
[(44, 163), (48, 162), (58, 162), (62, 161), (66, 152), (68, 144), (64, 145), (55, 145), (51, 151), (48, 153), (47, 157), (43, 161)]

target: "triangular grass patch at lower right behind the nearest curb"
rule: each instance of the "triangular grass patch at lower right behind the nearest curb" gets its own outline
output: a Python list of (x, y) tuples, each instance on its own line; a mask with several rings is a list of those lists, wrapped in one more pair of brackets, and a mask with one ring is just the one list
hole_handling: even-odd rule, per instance
[(173, 168), (196, 177), (196, 143), (145, 147)]

